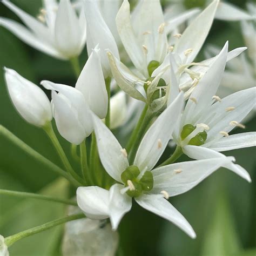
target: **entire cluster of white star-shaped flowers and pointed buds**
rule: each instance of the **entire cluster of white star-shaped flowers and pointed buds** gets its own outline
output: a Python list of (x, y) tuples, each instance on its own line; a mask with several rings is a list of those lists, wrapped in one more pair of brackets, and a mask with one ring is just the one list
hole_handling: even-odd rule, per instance
[[(133, 10), (127, 0), (44, 0), (44, 8), (33, 18), (3, 0), (25, 26), (3, 17), (0, 25), (33, 48), (70, 60), (77, 71), (75, 87), (42, 80), (44, 89), (51, 91), (50, 101), (41, 87), (4, 68), (12, 103), (26, 122), (49, 135), (63, 161), (65, 170), (58, 169), (59, 173), (77, 188), (77, 205), (87, 218), (110, 218), (116, 230), (134, 198), (196, 238), (168, 199), (191, 190), (220, 167), (251, 182), (234, 157), (220, 153), (256, 144), (255, 132), (229, 135), (244, 127), (242, 120), (255, 106), (255, 87), (224, 98), (218, 95), (226, 63), (246, 48), (228, 52), (226, 42), (214, 57), (195, 59), (214, 17), (227, 19), (223, 17), (227, 8), (232, 10), (231, 20), (253, 15), (218, 0), (206, 2), (204, 10), (170, 18), (168, 8), (164, 15), (158, 0), (140, 1)], [(190, 23), (181, 32), (187, 19)], [(242, 26), (251, 49), (252, 28), (246, 21)], [(80, 71), (77, 56), (85, 41), (89, 58)], [(82, 173), (60, 146), (53, 122), (71, 144), (73, 157), (80, 159)], [(1, 127), (8, 136), (4, 131)], [(166, 159), (163, 153), (170, 141), (176, 150)], [(177, 161), (182, 154), (192, 160)], [(6, 245), (15, 239), (8, 237)], [(6, 245), (1, 250), (6, 251)]]

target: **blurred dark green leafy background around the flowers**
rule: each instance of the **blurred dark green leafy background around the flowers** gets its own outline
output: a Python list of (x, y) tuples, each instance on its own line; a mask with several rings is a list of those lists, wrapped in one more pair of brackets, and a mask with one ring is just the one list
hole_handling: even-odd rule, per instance
[[(40, 0), (12, 0), (23, 10), (36, 16)], [(245, 9), (247, 1), (228, 1)], [(165, 1), (164, 4), (168, 3)], [(17, 16), (0, 4), (0, 16), (18, 20)], [(239, 22), (215, 20), (207, 38), (207, 45), (223, 46), (230, 42), (230, 50), (244, 46)], [(255, 42), (256, 43), (256, 42)], [(204, 49), (198, 60), (204, 59)], [(80, 64), (86, 62), (86, 51)], [(15, 69), (25, 78), (39, 84), (42, 79), (75, 85), (70, 63), (53, 59), (24, 44), (0, 27), (0, 124), (46, 158), (60, 165), (46, 134), (24, 122), (8, 97), (2, 67)], [(255, 67), (254, 67), (255, 68)], [(246, 81), (245, 81), (246, 83)], [(49, 93), (49, 92), (46, 92)], [(246, 123), (255, 131), (256, 118)], [(60, 138), (69, 154), (69, 144)], [(226, 152), (237, 159), (251, 174), (252, 183), (231, 171), (220, 169), (188, 193), (171, 198), (171, 203), (186, 217), (197, 233), (192, 240), (176, 226), (133, 204), (119, 227), (119, 255), (256, 255), (256, 150), (252, 148)], [(182, 160), (186, 160), (183, 158)], [(36, 160), (26, 156), (8, 140), (0, 136), (0, 188), (42, 192), (59, 197), (74, 194), (68, 184), (58, 179)], [(4, 237), (24, 229), (62, 217), (66, 209), (61, 204), (15, 199), (0, 196), (0, 234)], [(10, 248), (10, 255), (61, 255), (63, 226), (18, 241)]]

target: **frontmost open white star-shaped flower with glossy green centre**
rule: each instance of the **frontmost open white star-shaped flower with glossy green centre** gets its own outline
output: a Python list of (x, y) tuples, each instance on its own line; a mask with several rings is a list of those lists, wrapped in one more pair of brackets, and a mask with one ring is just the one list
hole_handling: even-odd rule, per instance
[(78, 187), (78, 206), (87, 217), (110, 217), (112, 228), (116, 230), (123, 215), (130, 211), (131, 197), (134, 197), (146, 210), (172, 221), (190, 237), (196, 237), (183, 215), (166, 199), (190, 190), (220, 166), (231, 163), (232, 158), (189, 161), (153, 169), (169, 142), (169, 131), (174, 129), (182, 106), (183, 95), (180, 93), (146, 132), (132, 166), (111, 131), (94, 118), (100, 160), (107, 173), (122, 184), (112, 185), (110, 191), (97, 186)]

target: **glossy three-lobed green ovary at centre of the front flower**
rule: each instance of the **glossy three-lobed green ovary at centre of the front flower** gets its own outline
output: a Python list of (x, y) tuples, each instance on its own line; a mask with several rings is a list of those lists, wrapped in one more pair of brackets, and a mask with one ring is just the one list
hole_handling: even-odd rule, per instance
[(146, 171), (140, 180), (138, 179), (139, 174), (139, 168), (135, 165), (127, 167), (121, 174), (121, 179), (125, 186), (128, 186), (127, 180), (131, 180), (135, 188), (135, 190), (128, 190), (126, 192), (130, 197), (139, 197), (143, 191), (150, 191), (153, 188), (154, 181), (152, 173)]

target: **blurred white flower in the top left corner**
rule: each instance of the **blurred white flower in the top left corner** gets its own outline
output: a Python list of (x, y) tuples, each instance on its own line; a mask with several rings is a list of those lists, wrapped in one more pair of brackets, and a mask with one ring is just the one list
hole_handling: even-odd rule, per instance
[(84, 48), (86, 21), (84, 12), (78, 17), (70, 0), (44, 0), (44, 8), (37, 18), (19, 9), (8, 0), (3, 0), (10, 10), (21, 18), (19, 24), (7, 18), (0, 18), (0, 25), (33, 48), (59, 59), (76, 57)]

